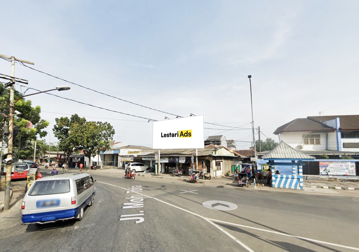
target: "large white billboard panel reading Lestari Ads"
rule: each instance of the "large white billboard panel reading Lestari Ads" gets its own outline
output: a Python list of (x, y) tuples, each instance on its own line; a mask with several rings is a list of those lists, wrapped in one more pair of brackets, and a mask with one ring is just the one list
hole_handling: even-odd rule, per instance
[(203, 115), (153, 122), (152, 148), (203, 149)]

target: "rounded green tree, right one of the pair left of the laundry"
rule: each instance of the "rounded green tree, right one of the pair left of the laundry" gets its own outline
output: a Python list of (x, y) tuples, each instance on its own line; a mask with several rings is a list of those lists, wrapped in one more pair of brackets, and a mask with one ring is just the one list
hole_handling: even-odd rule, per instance
[(76, 148), (82, 149), (85, 157), (89, 158), (88, 167), (90, 168), (91, 157), (109, 149), (109, 139), (112, 139), (114, 134), (115, 130), (107, 122), (86, 122), (71, 125), (69, 137), (76, 144)]

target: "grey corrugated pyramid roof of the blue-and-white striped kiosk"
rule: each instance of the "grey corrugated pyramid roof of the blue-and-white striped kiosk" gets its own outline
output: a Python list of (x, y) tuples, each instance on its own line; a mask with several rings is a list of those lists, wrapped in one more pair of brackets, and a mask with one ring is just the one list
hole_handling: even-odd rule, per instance
[(315, 159), (315, 157), (304, 154), (303, 152), (297, 151), (290, 147), (283, 140), (278, 144), (277, 147), (272, 149), (268, 154), (264, 155), (262, 159)]

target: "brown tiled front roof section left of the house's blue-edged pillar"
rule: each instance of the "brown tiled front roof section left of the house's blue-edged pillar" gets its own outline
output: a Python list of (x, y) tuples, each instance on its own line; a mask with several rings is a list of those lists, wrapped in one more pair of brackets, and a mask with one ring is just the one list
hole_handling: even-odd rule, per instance
[(297, 118), (278, 127), (273, 134), (278, 135), (284, 132), (331, 132), (333, 130), (334, 128), (309, 118)]

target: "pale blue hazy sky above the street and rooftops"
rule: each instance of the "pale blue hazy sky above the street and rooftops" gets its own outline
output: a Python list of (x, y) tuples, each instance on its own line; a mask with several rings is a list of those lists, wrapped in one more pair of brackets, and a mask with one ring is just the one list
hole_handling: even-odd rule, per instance
[[(113, 140), (152, 146), (152, 123), (204, 115), (205, 139), (237, 149), (296, 118), (358, 114), (359, 1), (6, 1), (0, 54), (34, 62), (15, 77), (45, 91), (41, 106), (55, 142), (55, 118), (78, 114), (110, 123)], [(0, 59), (0, 73), (10, 75)], [(24, 92), (27, 88), (15, 85)], [(29, 89), (26, 94), (36, 92)], [(94, 108), (87, 103), (125, 114)], [(174, 115), (171, 115), (174, 114)], [(227, 130), (229, 127), (246, 129)], [(227, 131), (226, 131), (227, 130)], [(255, 130), (258, 139), (258, 131)]]

